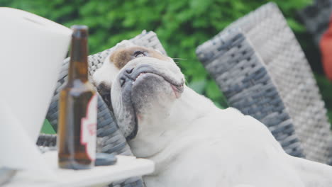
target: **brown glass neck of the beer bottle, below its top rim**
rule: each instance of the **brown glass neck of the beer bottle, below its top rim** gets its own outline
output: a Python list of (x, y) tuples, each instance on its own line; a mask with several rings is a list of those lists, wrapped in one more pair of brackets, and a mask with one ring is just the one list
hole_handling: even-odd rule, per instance
[(72, 38), (68, 81), (88, 80), (87, 38)]

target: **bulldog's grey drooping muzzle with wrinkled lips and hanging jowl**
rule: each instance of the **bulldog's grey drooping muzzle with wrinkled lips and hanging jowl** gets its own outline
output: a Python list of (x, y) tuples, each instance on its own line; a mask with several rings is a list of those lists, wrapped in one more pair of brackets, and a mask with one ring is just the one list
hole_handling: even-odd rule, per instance
[[(142, 64), (139, 67), (135, 67), (135, 69), (123, 70), (119, 74), (121, 108), (125, 108), (123, 111), (127, 111), (127, 114), (121, 115), (121, 118), (130, 119), (129, 124), (127, 124), (128, 120), (123, 120), (127, 121), (127, 123), (119, 125), (129, 127), (124, 130), (127, 140), (131, 140), (136, 136), (138, 119), (141, 116), (140, 114), (142, 114), (141, 110), (151, 99), (159, 99), (157, 93), (160, 94), (162, 91), (158, 91), (167, 91), (167, 93), (162, 94), (167, 94), (166, 96), (170, 96), (170, 98), (179, 98), (184, 91), (184, 79), (177, 79), (175, 74), (164, 71), (157, 69), (157, 67)], [(174, 96), (172, 96), (172, 93)], [(121, 113), (121, 111), (118, 111), (118, 113)], [(118, 119), (118, 121), (121, 120)]]

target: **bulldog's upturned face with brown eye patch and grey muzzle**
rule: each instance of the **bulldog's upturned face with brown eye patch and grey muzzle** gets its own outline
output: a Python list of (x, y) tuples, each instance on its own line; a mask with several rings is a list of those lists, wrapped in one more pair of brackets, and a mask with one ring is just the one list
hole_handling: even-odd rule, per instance
[(127, 139), (135, 137), (140, 121), (166, 118), (184, 89), (184, 75), (170, 57), (126, 40), (93, 79), (103, 98), (111, 93), (114, 115)]

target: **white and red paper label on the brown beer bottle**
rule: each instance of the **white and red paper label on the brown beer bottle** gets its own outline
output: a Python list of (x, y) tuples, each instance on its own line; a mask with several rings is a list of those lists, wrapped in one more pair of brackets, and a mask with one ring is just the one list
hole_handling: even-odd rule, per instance
[(97, 119), (97, 95), (94, 94), (87, 106), (87, 115), (81, 119), (81, 144), (85, 145), (85, 151), (89, 159), (96, 159), (96, 119)]

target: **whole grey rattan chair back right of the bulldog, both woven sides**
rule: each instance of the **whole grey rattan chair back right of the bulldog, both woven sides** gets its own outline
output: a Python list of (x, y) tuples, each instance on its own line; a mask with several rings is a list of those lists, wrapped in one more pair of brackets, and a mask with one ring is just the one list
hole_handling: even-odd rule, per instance
[(265, 123), (284, 150), (332, 164), (326, 108), (279, 8), (265, 4), (197, 47), (228, 104)]

